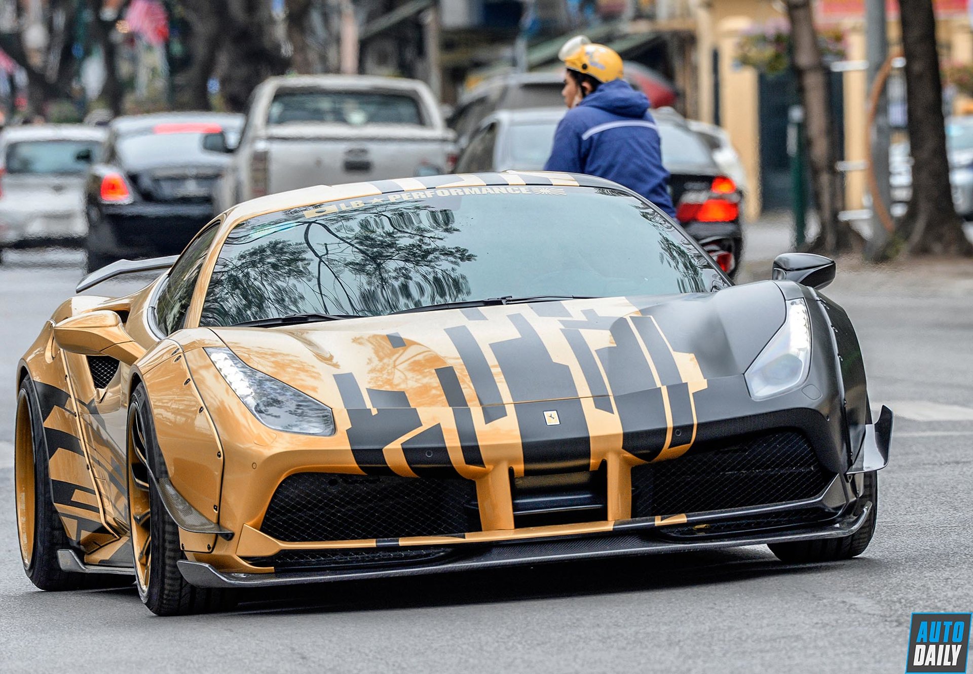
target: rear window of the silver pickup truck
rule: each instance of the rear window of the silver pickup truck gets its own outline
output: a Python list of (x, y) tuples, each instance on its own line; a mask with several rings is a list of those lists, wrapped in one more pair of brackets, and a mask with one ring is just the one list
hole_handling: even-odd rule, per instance
[(422, 124), (418, 102), (395, 93), (301, 91), (278, 93), (270, 103), (268, 124)]

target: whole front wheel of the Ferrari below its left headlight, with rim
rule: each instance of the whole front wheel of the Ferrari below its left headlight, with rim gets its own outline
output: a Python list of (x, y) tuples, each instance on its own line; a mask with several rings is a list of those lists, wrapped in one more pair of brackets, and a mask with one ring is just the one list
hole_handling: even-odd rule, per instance
[(186, 557), (179, 544), (179, 527), (165, 512), (151, 477), (164, 475), (165, 468), (144, 384), (135, 388), (128, 406), (127, 453), (128, 521), (135, 585), (142, 602), (157, 616), (233, 608), (232, 590), (194, 587), (176, 565)]

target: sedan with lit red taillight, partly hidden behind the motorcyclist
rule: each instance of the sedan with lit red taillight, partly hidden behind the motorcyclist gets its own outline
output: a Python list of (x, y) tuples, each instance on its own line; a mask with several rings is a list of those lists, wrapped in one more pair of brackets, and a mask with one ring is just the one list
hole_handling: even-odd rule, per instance
[[(456, 161), (457, 173), (538, 170), (551, 155), (565, 109), (500, 110), (488, 116)], [(675, 111), (653, 112), (676, 219), (731, 276), (743, 251), (743, 194), (699, 134)]]

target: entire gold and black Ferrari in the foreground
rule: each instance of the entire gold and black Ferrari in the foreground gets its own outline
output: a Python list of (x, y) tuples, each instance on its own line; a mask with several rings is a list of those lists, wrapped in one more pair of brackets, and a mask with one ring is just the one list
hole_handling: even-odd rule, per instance
[[(505, 172), (235, 206), (19, 364), (23, 566), (238, 588), (768, 544), (865, 550), (891, 434), (835, 266), (733, 285), (613, 183)], [(123, 579), (124, 580), (124, 579)]]

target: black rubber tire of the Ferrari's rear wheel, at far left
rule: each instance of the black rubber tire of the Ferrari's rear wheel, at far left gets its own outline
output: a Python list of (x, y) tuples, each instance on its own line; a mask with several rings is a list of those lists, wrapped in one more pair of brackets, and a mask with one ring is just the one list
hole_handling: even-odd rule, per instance
[[(17, 464), (21, 461), (25, 462), (31, 457), (33, 460), (33, 470), (24, 466), (23, 474), (18, 472), (19, 466), (15, 465), (15, 476), (18, 476), (15, 490), (18, 495), (21, 489), (20, 480), (29, 479), (31, 474), (34, 479), (33, 549), (26, 553), (21, 543), (23, 570), (31, 583), (48, 591), (103, 586), (104, 576), (61, 571), (60, 564), (57, 563), (57, 550), (71, 550), (72, 546), (64, 531), (60, 515), (54, 509), (51, 478), (48, 472), (47, 441), (44, 438), (44, 421), (41, 418), (37, 387), (29, 376), (23, 377), (20, 381), (17, 402), (17, 429), (14, 437), (18, 446), (15, 447), (15, 462)], [(27, 424), (29, 428), (23, 424)], [(32, 446), (28, 448), (26, 443)]]

